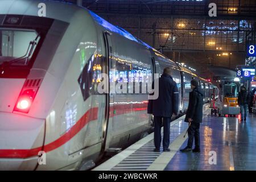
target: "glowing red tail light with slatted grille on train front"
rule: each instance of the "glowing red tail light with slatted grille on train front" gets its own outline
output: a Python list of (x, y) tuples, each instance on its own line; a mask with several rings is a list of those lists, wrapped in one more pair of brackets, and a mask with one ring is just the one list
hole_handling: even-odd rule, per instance
[(18, 97), (16, 105), (14, 107), (14, 111), (28, 113), (30, 111), (30, 107), (32, 102), (35, 99), (36, 93), (38, 92), (40, 84), (39, 80), (27, 80), (22, 88), (22, 92)]

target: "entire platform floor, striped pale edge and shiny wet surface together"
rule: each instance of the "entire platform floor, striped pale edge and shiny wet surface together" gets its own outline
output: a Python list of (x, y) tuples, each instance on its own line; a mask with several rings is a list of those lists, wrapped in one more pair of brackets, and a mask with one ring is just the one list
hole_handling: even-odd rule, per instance
[[(256, 115), (246, 122), (214, 117), (205, 110), (200, 126), (201, 152), (180, 152), (187, 146), (185, 116), (171, 123), (170, 152), (154, 152), (154, 133), (97, 166), (98, 171), (241, 171), (256, 170)], [(163, 134), (163, 133), (162, 133)]]

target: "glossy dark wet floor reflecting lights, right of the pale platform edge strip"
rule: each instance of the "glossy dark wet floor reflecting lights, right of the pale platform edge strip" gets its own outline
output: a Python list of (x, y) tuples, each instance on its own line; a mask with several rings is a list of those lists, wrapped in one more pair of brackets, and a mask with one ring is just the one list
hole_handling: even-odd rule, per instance
[[(165, 170), (256, 170), (256, 115), (248, 115), (246, 122), (238, 118), (205, 117), (200, 134), (201, 153), (178, 151)], [(185, 146), (187, 140), (181, 148)]]

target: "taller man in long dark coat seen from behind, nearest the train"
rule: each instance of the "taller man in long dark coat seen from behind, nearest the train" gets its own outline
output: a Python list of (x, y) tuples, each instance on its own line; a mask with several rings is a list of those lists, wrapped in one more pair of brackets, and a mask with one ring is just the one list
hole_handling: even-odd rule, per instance
[[(179, 90), (177, 84), (171, 76), (172, 69), (165, 68), (163, 75), (159, 79), (159, 96), (156, 100), (148, 101), (148, 114), (154, 115), (154, 142), (155, 152), (160, 152), (161, 127), (164, 127), (163, 151), (170, 151), (170, 122), (172, 115), (177, 115), (179, 107)], [(152, 85), (154, 89), (154, 82)]]

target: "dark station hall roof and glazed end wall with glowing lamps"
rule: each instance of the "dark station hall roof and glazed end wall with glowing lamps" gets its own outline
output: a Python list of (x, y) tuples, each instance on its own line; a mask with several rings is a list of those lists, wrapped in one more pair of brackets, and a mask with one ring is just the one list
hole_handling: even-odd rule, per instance
[[(245, 64), (246, 45), (256, 42), (256, 1), (251, 0), (68, 0), (174, 61), (209, 77), (209, 66)], [(216, 3), (217, 16), (209, 16)], [(255, 43), (256, 44), (256, 43)]]

